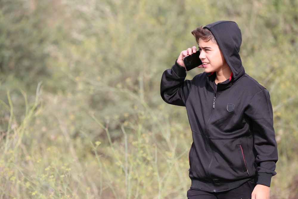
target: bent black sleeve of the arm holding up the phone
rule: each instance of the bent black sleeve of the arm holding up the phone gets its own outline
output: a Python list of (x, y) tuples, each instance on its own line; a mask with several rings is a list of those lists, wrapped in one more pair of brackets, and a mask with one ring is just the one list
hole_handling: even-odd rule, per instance
[(185, 68), (176, 63), (171, 69), (167, 69), (162, 74), (162, 80), (160, 84), (160, 94), (162, 99), (168, 104), (185, 106), (185, 89), (186, 83), (184, 79), (186, 77)]

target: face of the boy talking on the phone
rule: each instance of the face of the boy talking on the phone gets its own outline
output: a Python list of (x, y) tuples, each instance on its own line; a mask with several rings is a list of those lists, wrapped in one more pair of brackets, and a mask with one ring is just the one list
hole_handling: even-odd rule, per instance
[(218, 44), (213, 43), (211, 40), (205, 42), (199, 38), (199, 51), (205, 72), (216, 72), (218, 74), (224, 68), (229, 67)]

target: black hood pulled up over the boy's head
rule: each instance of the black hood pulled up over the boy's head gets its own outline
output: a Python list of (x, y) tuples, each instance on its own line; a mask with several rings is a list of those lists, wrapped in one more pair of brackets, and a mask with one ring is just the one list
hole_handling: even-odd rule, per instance
[(227, 64), (233, 72), (234, 79), (244, 75), (245, 71), (239, 55), (242, 36), (238, 25), (234, 21), (216, 21), (204, 28), (209, 29), (215, 37)]

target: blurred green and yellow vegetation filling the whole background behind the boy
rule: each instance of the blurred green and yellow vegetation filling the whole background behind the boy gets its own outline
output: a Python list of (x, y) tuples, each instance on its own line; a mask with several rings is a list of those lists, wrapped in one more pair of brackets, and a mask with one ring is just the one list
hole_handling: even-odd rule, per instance
[[(297, 0), (0, 0), (0, 199), (186, 198), (192, 138), (162, 72), (232, 20), (271, 95), (271, 198), (298, 197)], [(187, 78), (202, 72), (194, 69)]]

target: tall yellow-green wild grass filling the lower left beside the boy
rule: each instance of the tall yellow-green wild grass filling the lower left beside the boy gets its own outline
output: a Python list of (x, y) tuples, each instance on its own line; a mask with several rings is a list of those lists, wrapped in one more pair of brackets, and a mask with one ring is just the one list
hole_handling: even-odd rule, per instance
[[(10, 119), (1, 135), (0, 198), (183, 198), (190, 138), (173, 132), (184, 126), (162, 118), (166, 107), (153, 111), (142, 95), (115, 92), (134, 98), (136, 114), (125, 114), (121, 122), (117, 115), (86, 113), (106, 134), (97, 141), (83, 129), (78, 137), (71, 135), (63, 109), (56, 112), (55, 99), (41, 97), (39, 87), (32, 103), (21, 91), (26, 104), (21, 118), (15, 118), (7, 92), (9, 103), (1, 100)], [(118, 140), (111, 136), (110, 121), (120, 125)]]

